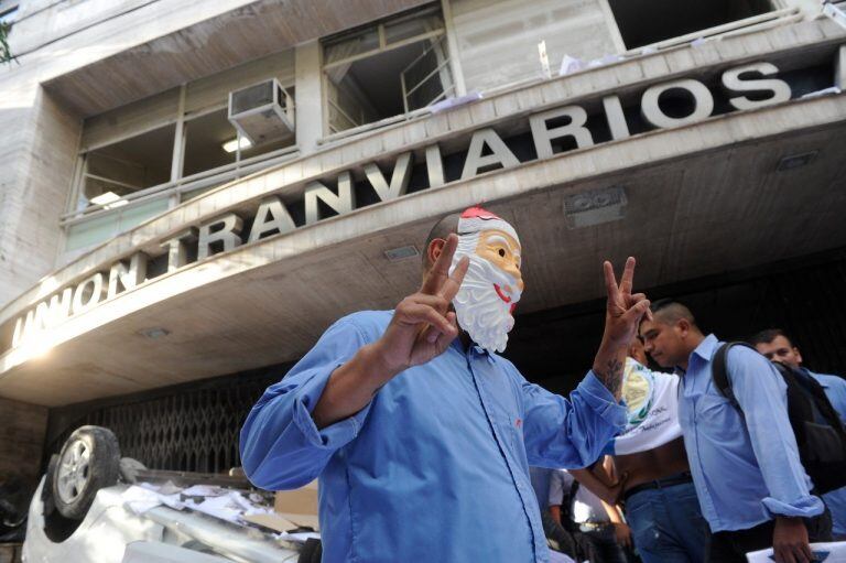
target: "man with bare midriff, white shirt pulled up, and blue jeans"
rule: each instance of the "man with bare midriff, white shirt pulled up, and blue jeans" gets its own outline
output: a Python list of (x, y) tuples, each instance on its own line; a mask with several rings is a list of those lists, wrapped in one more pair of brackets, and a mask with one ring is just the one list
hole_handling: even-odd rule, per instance
[[(629, 426), (615, 439), (608, 452), (615, 455), (606, 458), (605, 467), (597, 464), (593, 473), (571, 473), (606, 502), (622, 500), (644, 563), (699, 563), (705, 560), (708, 527), (679, 426), (679, 379), (644, 368), (647, 355), (638, 338), (629, 347), (629, 357), (622, 391), (629, 404)], [(625, 542), (625, 524), (618, 530), (619, 541)]]

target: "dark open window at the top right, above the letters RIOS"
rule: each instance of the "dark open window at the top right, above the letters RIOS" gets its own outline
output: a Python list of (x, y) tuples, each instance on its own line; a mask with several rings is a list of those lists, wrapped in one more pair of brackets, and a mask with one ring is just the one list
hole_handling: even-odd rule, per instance
[[(608, 0), (627, 48), (716, 28), (773, 10), (770, 0)], [(644, 18), (643, 14), (655, 14)]]

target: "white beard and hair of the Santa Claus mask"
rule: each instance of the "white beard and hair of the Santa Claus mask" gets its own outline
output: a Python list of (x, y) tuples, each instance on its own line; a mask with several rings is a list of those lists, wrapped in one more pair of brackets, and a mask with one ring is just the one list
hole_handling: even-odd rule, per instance
[[(511, 307), (520, 300), (520, 292), (511, 275), (475, 253), (477, 240), (478, 237), (475, 237), (475, 240), (462, 241), (471, 245), (459, 242), (455, 252), (453, 268), (464, 256), (469, 257), (470, 264), (462, 288), (453, 299), (453, 306), (458, 325), (467, 332), (473, 342), (491, 353), (503, 351), (508, 344), (508, 333), (514, 326)], [(511, 301), (502, 301), (494, 284), (500, 289), (511, 288), (512, 293), (508, 295)]]

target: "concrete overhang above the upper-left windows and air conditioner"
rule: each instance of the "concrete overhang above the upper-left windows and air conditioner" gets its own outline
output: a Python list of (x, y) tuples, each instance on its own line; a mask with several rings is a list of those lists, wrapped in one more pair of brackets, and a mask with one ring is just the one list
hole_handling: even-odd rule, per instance
[[(88, 117), (425, 3), (429, 0), (259, 0), (99, 57), (46, 80), (44, 87), (63, 105)], [(132, 18), (144, 23), (158, 20), (167, 30), (191, 18), (191, 8), (188, 3), (174, 7), (173, 14), (162, 21), (161, 7), (142, 7), (150, 15), (133, 13)], [(121, 42), (134, 33), (111, 21), (99, 26), (107, 29), (87, 30), (95, 43), (111, 28), (120, 32)]]

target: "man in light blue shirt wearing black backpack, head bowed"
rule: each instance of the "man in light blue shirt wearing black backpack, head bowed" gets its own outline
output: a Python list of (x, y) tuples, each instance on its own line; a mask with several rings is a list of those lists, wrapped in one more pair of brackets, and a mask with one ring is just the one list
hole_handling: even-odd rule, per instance
[(727, 372), (742, 413), (712, 376), (719, 343), (674, 301), (652, 306), (640, 325), (647, 353), (681, 376), (679, 419), (693, 481), (708, 521), (708, 561), (745, 562), (773, 548), (779, 563), (813, 560), (809, 541), (831, 538), (831, 519), (799, 458), (787, 386), (760, 354), (731, 348)]

